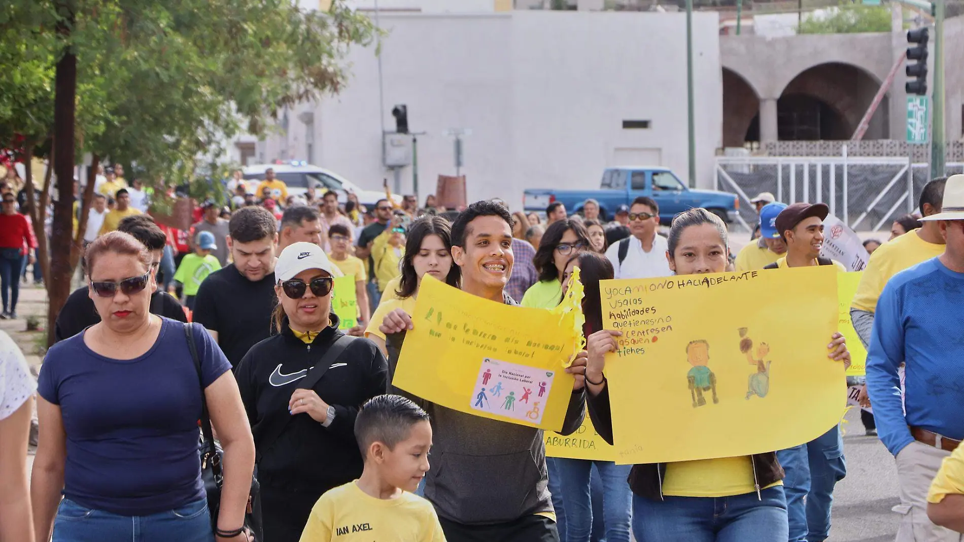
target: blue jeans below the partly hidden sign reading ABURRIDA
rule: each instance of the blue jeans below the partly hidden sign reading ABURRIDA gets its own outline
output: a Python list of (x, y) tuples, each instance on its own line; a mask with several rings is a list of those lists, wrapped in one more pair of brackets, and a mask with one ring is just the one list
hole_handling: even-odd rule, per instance
[(631, 465), (610, 461), (555, 459), (566, 506), (566, 542), (589, 542), (593, 531), (594, 508), (599, 499), (591, 496), (590, 478), (596, 466), (603, 486), (603, 525), (606, 542), (629, 542), (629, 517), (632, 492), (627, 477)]

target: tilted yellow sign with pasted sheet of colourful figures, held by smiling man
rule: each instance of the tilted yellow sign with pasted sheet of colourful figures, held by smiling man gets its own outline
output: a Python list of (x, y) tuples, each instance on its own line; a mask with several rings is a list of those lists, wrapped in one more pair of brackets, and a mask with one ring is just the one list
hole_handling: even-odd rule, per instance
[(392, 385), (444, 407), (558, 431), (574, 379), (576, 316), (422, 280)]

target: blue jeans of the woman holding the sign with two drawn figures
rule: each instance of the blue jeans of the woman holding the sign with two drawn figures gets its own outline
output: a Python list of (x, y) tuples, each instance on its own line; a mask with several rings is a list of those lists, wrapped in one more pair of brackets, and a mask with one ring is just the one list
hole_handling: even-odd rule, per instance
[(734, 497), (632, 496), (632, 534), (638, 542), (786, 542), (783, 486)]

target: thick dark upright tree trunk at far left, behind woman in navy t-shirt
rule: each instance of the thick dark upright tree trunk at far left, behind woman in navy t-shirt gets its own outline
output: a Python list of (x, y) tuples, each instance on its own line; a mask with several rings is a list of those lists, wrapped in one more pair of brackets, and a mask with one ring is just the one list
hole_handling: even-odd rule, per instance
[[(73, 6), (65, 2), (64, 20), (58, 31), (69, 37), (74, 23)], [(57, 62), (54, 83), (54, 174), (57, 176), (57, 202), (54, 203), (50, 233), (50, 274), (47, 278), (47, 344), (54, 342), (54, 322), (70, 295), (70, 233), (73, 230), (74, 124), (77, 98), (77, 57), (69, 46)]]

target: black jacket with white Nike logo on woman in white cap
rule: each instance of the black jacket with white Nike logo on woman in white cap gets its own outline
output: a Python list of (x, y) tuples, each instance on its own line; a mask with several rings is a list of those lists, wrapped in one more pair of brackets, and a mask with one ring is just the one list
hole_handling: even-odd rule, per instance
[[(344, 334), (338, 319), (310, 344), (298, 339), (288, 327), (281, 334), (252, 346), (237, 367), (241, 391), (258, 454), (258, 480), (267, 486), (320, 495), (362, 475), (362, 453), (355, 440), (355, 418), (366, 400), (387, 393), (388, 364), (374, 342), (356, 338), (338, 356), (313, 390), (335, 407), (335, 420), (328, 427), (307, 413), (291, 417), (288, 400), (299, 381), (328, 348)], [(281, 436), (265, 442), (269, 426), (286, 423)]]

